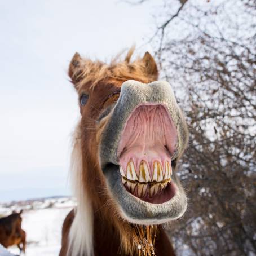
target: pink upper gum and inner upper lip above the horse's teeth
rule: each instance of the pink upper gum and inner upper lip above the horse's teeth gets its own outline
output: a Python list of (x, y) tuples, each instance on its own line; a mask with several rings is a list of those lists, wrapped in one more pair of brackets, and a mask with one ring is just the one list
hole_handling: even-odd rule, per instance
[(158, 161), (164, 170), (165, 161), (171, 163), (171, 155), (177, 142), (176, 127), (164, 105), (143, 104), (131, 113), (122, 131), (118, 147), (120, 165), (126, 173), (127, 163), (133, 160), (137, 175), (144, 160), (152, 178), (153, 163)]

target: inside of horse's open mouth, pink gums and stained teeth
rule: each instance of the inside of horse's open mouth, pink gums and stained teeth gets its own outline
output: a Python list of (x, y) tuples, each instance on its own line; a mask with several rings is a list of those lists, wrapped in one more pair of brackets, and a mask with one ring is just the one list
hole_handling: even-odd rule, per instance
[(133, 196), (161, 204), (175, 196), (171, 156), (177, 132), (164, 105), (135, 108), (121, 134), (118, 155), (122, 183)]

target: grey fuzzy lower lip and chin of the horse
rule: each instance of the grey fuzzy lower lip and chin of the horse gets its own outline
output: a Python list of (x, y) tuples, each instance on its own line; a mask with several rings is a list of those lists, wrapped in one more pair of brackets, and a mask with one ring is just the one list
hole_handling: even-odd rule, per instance
[[(177, 187), (175, 195), (161, 204), (143, 201), (129, 193), (122, 184), (118, 166), (109, 165), (104, 170), (107, 187), (117, 201), (123, 218), (135, 224), (161, 224), (179, 218), (187, 208), (187, 198), (182, 188)], [(176, 209), (173, 211), (173, 209)]]

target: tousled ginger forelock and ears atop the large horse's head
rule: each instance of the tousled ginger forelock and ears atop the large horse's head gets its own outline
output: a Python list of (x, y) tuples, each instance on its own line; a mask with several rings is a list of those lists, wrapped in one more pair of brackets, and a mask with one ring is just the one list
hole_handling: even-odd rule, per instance
[[(121, 83), (130, 79), (144, 83), (155, 81), (158, 77), (158, 72), (157, 67), (151, 65), (151, 55), (146, 53), (144, 61), (138, 58), (131, 63), (133, 55), (134, 48), (131, 48), (125, 60), (121, 60), (120, 55), (117, 55), (110, 64), (106, 64), (99, 60), (81, 59), (80, 55), (76, 53), (70, 63), (68, 73), (78, 91), (81, 91), (85, 84), (90, 84), (90, 87), (94, 87), (105, 80)], [(149, 73), (145, 74), (145, 69), (149, 70)]]

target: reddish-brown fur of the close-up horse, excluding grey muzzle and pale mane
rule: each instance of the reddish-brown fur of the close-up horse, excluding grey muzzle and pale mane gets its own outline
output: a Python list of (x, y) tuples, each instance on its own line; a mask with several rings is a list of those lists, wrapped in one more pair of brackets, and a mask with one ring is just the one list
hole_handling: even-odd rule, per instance
[[(135, 225), (121, 218), (116, 202), (109, 195), (99, 164), (98, 147), (101, 133), (108, 121), (108, 117), (105, 117), (97, 123), (95, 120), (99, 114), (118, 99), (124, 81), (132, 79), (149, 83), (158, 78), (157, 65), (148, 52), (142, 59), (136, 59), (131, 63), (132, 54), (133, 50), (129, 51), (125, 61), (117, 63), (117, 60), (114, 60), (110, 65), (82, 59), (79, 54), (75, 54), (69, 66), (69, 76), (78, 95), (90, 95), (87, 107), (83, 108), (80, 105), (82, 118), (78, 126), (80, 133), (77, 139), (81, 140), (82, 147), (81, 179), (84, 193), (92, 198), (94, 208), (94, 253), (152, 255), (152, 245), (155, 244), (157, 255), (174, 255), (173, 248), (160, 226)], [(73, 218), (74, 211), (70, 212), (64, 221), (60, 256), (67, 255), (68, 233)], [(164, 240), (164, 245), (161, 239)], [(143, 246), (144, 253), (138, 250), (138, 245)]]

